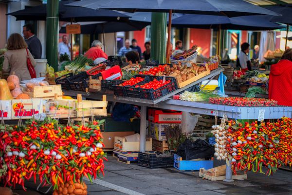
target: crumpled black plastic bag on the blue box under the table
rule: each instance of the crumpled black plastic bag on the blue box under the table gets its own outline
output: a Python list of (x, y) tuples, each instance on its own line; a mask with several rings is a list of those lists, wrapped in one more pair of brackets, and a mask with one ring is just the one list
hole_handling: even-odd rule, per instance
[(192, 160), (197, 158), (210, 159), (214, 156), (214, 153), (214, 146), (202, 139), (197, 139), (194, 142), (186, 139), (178, 148), (178, 155), (182, 156), (183, 160)]

